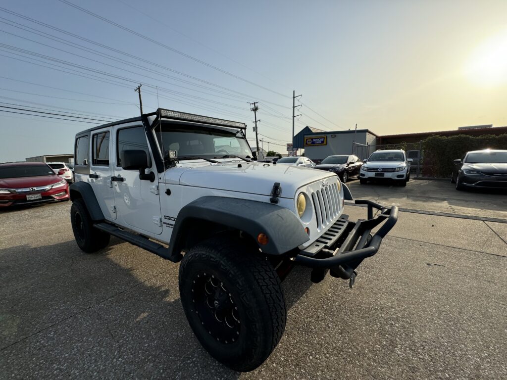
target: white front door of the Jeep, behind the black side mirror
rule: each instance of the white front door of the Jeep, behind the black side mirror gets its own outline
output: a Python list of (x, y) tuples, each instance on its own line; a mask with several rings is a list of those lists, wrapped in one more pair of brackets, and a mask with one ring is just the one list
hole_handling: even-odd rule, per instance
[[(140, 125), (119, 126), (115, 128), (114, 138), (115, 164), (112, 179), (118, 220), (120, 224), (124, 223), (138, 232), (160, 235), (162, 219), (158, 175), (144, 128)], [(154, 182), (139, 179), (138, 170), (122, 168), (121, 152), (129, 149), (146, 152), (150, 167), (145, 172), (155, 172)]]

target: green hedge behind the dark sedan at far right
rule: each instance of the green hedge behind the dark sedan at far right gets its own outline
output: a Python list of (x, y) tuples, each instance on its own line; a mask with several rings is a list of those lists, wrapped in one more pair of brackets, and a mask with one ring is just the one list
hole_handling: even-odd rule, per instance
[(430, 136), (422, 141), (422, 175), (426, 177), (450, 177), (453, 161), (461, 159), (469, 150), (507, 149), (507, 133), (502, 135), (451, 137)]

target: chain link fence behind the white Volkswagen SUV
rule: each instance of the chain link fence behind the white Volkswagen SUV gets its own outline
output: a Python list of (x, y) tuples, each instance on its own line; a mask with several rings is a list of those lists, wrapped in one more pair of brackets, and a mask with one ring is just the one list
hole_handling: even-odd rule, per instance
[(425, 157), (422, 150), (422, 141), (402, 142), (399, 144), (363, 145), (354, 143), (353, 155), (365, 160), (376, 150), (402, 149), (407, 153), (407, 158), (412, 159), (410, 172), (412, 177), (431, 176), (431, 157)]

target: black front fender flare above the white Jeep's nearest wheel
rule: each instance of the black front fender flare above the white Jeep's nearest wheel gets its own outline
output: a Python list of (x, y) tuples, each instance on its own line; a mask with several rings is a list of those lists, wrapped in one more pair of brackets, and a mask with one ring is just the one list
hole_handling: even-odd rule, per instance
[[(281, 255), (309, 240), (299, 218), (290, 210), (272, 203), (228, 197), (206, 196), (184, 206), (174, 222), (170, 254), (179, 253), (185, 245), (185, 229), (193, 220), (218, 223), (243, 231), (256, 241), (264, 253)], [(257, 236), (264, 233), (268, 243), (261, 245)]]

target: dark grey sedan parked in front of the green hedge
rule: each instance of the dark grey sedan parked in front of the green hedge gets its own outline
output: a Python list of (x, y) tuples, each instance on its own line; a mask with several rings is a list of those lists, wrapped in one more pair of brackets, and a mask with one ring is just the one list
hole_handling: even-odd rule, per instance
[(456, 190), (470, 187), (507, 188), (507, 150), (474, 150), (454, 160), (451, 182)]

